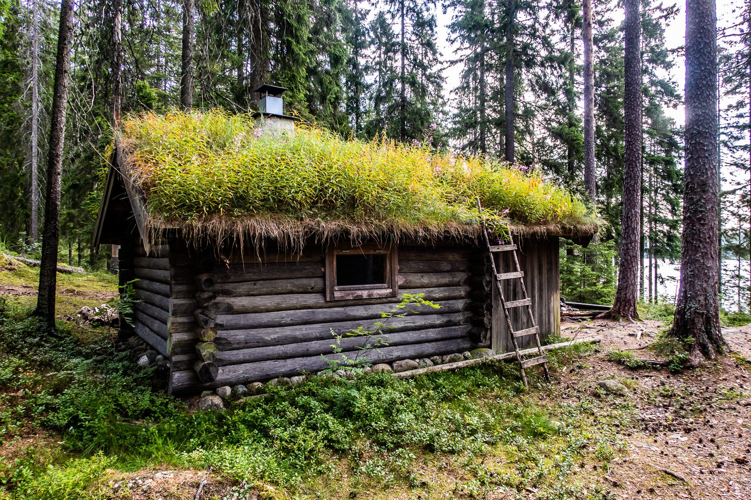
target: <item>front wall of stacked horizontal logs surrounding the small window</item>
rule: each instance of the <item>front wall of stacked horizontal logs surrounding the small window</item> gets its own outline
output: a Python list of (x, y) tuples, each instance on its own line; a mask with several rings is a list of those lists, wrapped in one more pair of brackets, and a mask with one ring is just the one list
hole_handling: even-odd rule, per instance
[[(481, 327), (488, 323), (484, 304), (489, 298), (475, 294), (471, 284), (478, 251), (454, 243), (400, 246), (398, 253), (400, 294), (424, 293), (442, 307), (421, 308), (417, 315), (388, 322), (393, 328), (382, 334), (388, 346), (368, 352), (367, 360), (391, 362), (462, 352), (483, 345), (483, 340), (487, 346), (487, 328)], [(321, 355), (333, 356), (332, 330), (345, 334), (358, 326), (373, 328), (373, 322), (382, 321), (381, 313), (399, 302), (399, 298), (326, 301), (320, 244), (306, 247), (301, 255), (271, 250), (261, 259), (237, 253), (225, 259), (198, 259), (195, 277), (199, 307), (195, 316), (201, 327), (217, 330), (219, 376), (216, 382), (201, 384), (192, 370), (195, 329), (170, 328), (175, 393), (323, 370), (327, 364)], [(345, 337), (340, 347), (354, 358), (363, 355), (357, 346), (364, 342), (363, 337)]]

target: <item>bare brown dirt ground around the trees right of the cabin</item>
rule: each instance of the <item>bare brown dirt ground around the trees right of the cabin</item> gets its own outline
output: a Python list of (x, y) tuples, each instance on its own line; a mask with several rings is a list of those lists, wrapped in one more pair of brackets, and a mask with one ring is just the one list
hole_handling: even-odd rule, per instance
[[(632, 370), (607, 361), (605, 353), (613, 348), (638, 349), (634, 352), (639, 358), (653, 359), (643, 348), (662, 324), (595, 320), (587, 325), (587, 334), (602, 335), (601, 353), (590, 356), (590, 366), (584, 370), (563, 370), (559, 395), (576, 397), (574, 388), (593, 388), (602, 379), (633, 381), (635, 388), (620, 397), (633, 404), (632, 418), (623, 422), (629, 448), (603, 476), (614, 496), (751, 498), (751, 381), (746, 370), (751, 365), (725, 356), (677, 374), (667, 369)], [(566, 332), (583, 326), (566, 323), (562, 328)], [(637, 338), (639, 331), (641, 338)], [(723, 333), (734, 355), (751, 357), (751, 325), (723, 328)], [(602, 400), (601, 409), (607, 415), (608, 401)]]

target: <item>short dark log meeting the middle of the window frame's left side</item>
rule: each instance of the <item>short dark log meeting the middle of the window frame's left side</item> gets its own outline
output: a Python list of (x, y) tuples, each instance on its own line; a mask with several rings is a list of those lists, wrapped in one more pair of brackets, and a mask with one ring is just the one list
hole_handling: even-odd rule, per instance
[(195, 286), (210, 290), (216, 283), (237, 283), (259, 280), (291, 280), (296, 278), (323, 277), (324, 262), (289, 262), (265, 265), (230, 265), (213, 273), (198, 274)]

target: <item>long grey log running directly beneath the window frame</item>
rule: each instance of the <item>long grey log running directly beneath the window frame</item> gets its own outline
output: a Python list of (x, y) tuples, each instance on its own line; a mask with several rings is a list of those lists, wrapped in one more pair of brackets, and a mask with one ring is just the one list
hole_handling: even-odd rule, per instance
[[(413, 295), (423, 293), (424, 299), (427, 301), (456, 300), (466, 297), (470, 291), (469, 286), (409, 289), (409, 293)], [(346, 301), (346, 305), (353, 307), (369, 304), (389, 304), (398, 301), (398, 297), (358, 298)], [(327, 301), (322, 293), (300, 293), (261, 295), (258, 297), (222, 297), (210, 301), (204, 307), (216, 314), (243, 314), (298, 309), (324, 309), (341, 305), (342, 302), (339, 301)]]

